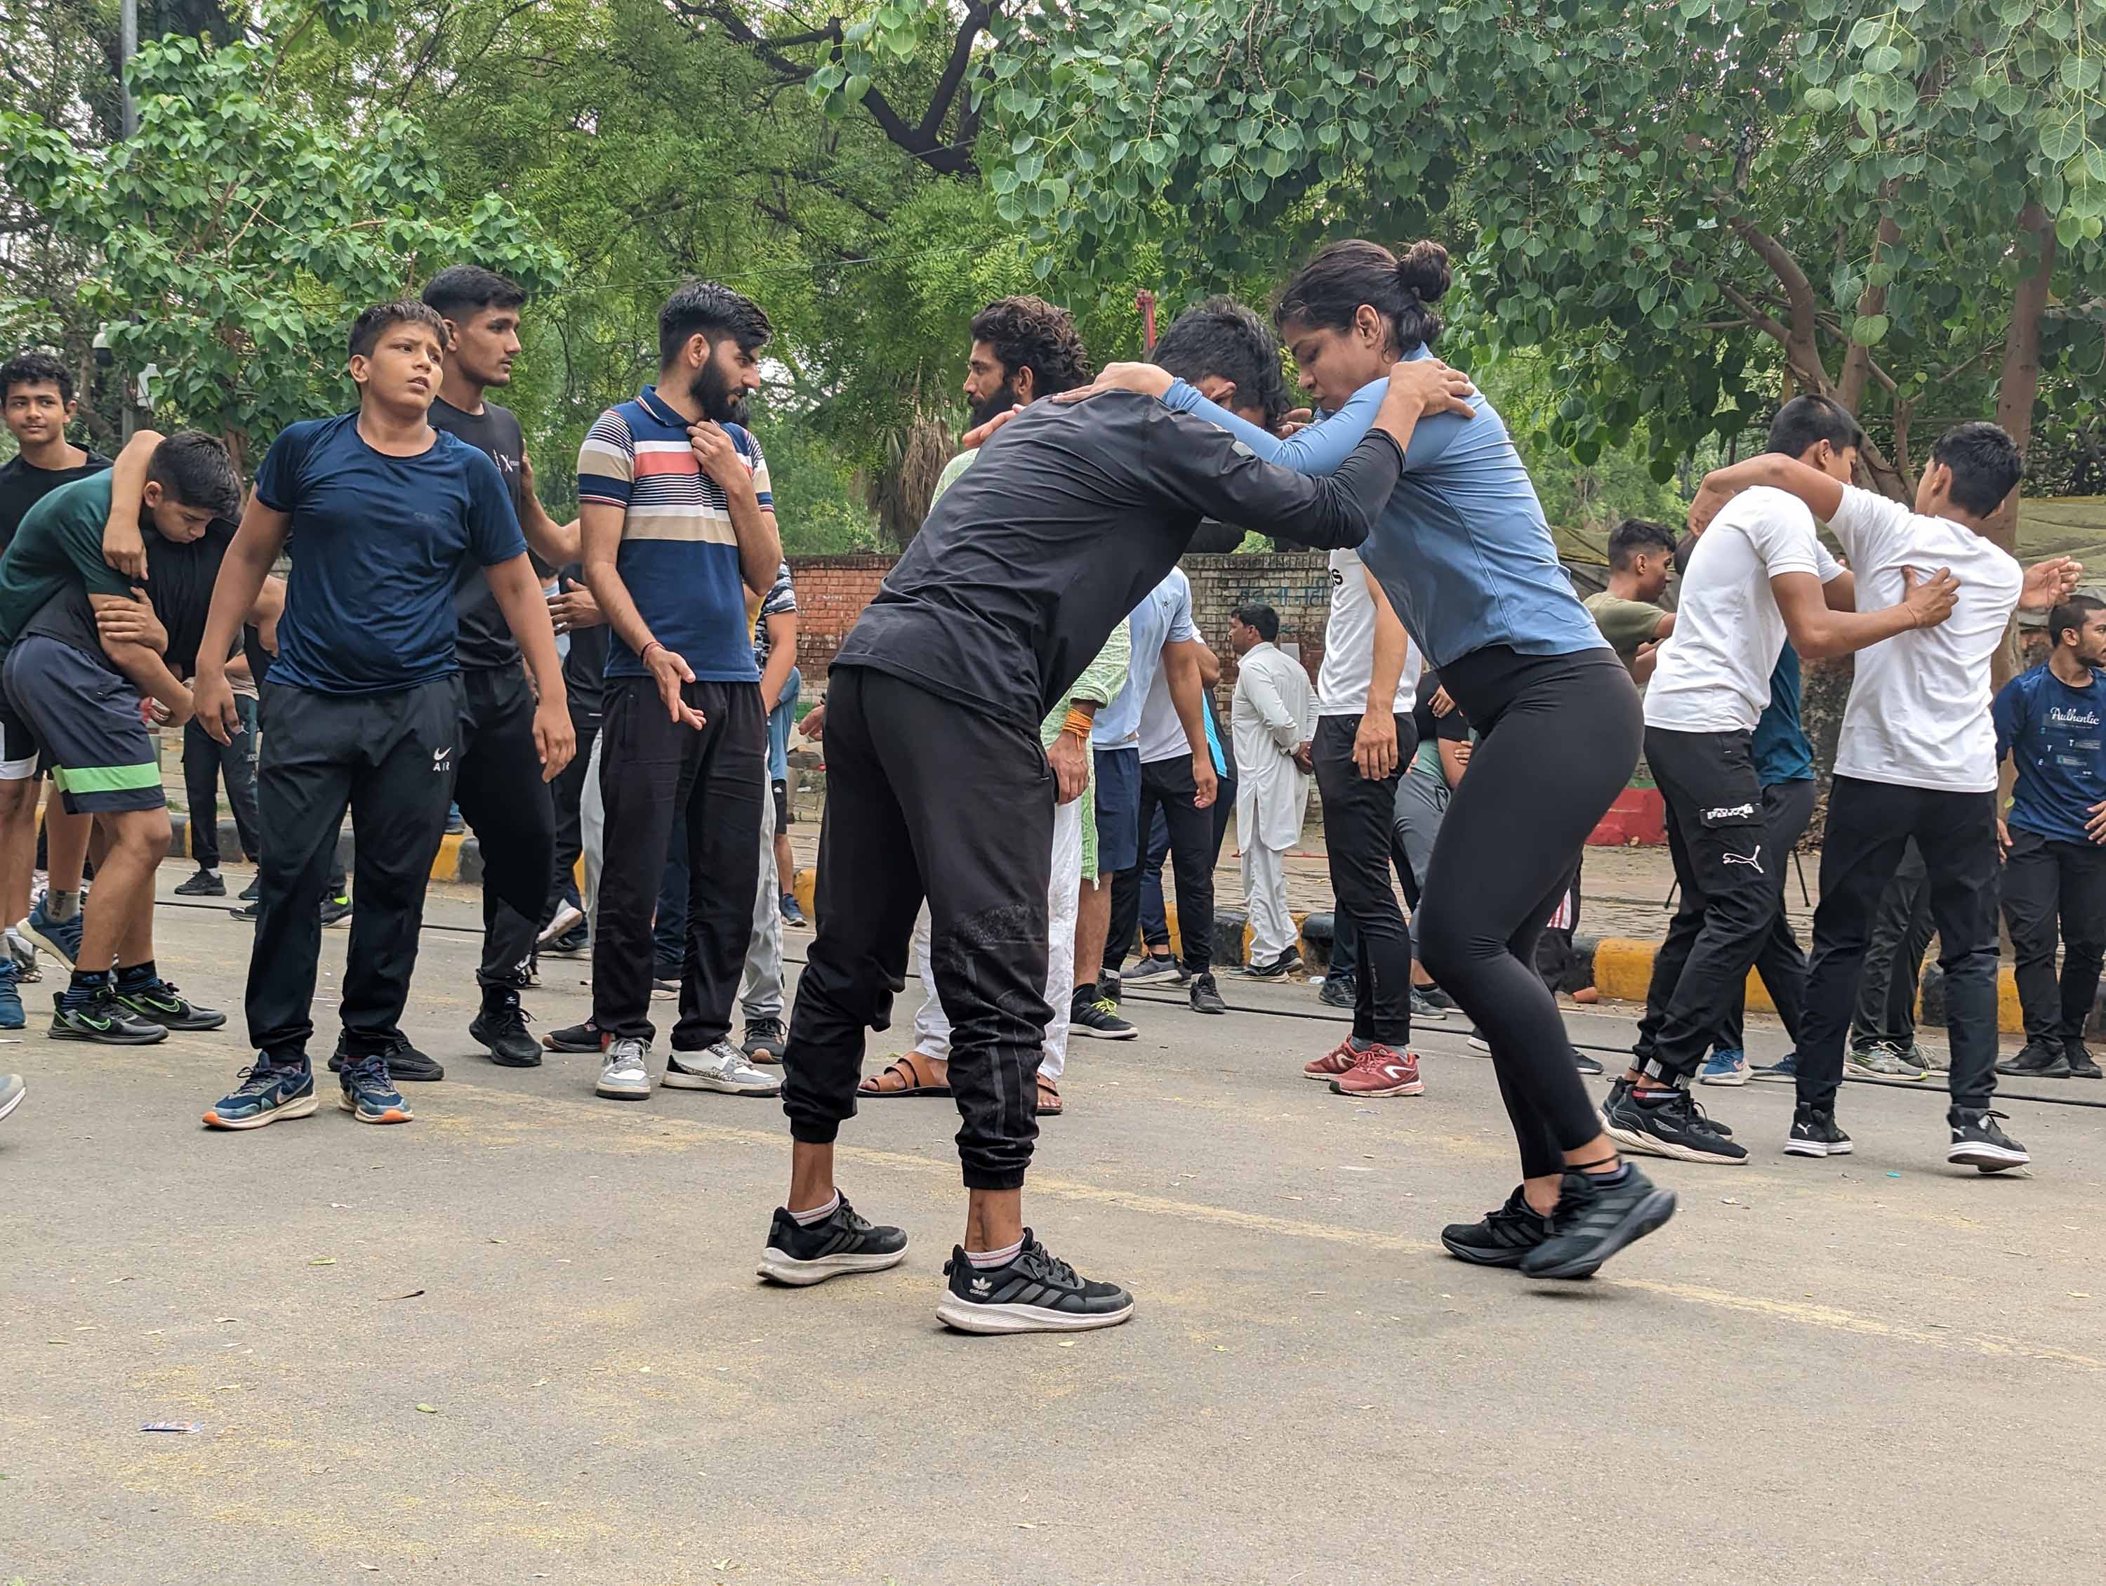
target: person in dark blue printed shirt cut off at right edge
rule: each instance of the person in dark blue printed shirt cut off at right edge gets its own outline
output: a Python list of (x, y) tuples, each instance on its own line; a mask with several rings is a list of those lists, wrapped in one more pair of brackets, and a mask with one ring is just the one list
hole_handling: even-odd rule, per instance
[[(2077, 594), (2047, 617), (2053, 649), (1996, 695), (1996, 760), (2018, 786), (1996, 821), (2003, 840), (2003, 918), (2018, 958), (2026, 1049), (1996, 1068), (2030, 1078), (2100, 1078), (2085, 1019), (2106, 958), (2106, 602)], [(2062, 984), (2055, 986), (2055, 918)]]

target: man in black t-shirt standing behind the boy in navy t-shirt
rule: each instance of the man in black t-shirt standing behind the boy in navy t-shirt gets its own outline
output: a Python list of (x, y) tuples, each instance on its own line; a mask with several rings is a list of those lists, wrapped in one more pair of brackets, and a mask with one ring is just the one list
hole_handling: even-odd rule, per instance
[[(510, 409), (484, 400), (491, 385), (512, 383), (526, 293), (480, 265), (453, 265), (432, 276), (423, 301), (446, 322), (446, 373), (432, 400), (432, 428), (497, 463), (543, 575), (550, 567), (575, 562), (577, 524), (558, 524), (535, 497), (520, 421)], [(463, 706), (453, 796), (482, 849), (482, 965), (476, 969), (482, 1011), (468, 1034), (489, 1051), (491, 1062), (533, 1068), (541, 1062), (541, 1043), (526, 1034), (520, 992), (533, 984), (535, 937), (556, 864), (556, 805), (541, 781), (533, 739), (535, 697), (520, 666), (520, 647), (480, 567), (461, 567), (455, 611)], [(585, 748), (581, 737), (575, 777), (583, 775)], [(524, 897), (529, 876), (541, 880), (543, 897), (531, 910), (514, 908), (505, 897)]]

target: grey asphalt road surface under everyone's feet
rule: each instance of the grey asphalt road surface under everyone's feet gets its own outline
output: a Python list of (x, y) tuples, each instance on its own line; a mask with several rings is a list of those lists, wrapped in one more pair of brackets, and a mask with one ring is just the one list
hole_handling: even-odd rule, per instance
[[(432, 927), (474, 918), (434, 889)], [(171, 904), (160, 937), (238, 1009), (246, 927)], [(343, 952), (331, 931), (324, 969)], [(493, 1068), (474, 952), (425, 933), (406, 1028), (451, 1074), (400, 1129), (324, 1093), (204, 1131), (236, 1032), (91, 1049), (32, 1017), (0, 1047), (29, 1078), (0, 1125), (0, 1582), (2106, 1573), (2106, 1110), (2011, 1104), (2034, 1167), (1990, 1179), (1944, 1165), (1921, 1087), (1849, 1087), (1860, 1150), (1826, 1163), (1777, 1150), (1786, 1089), (1712, 1091), (1752, 1163), (1657, 1165), (1666, 1230), (1529, 1285), (1436, 1243), (1514, 1179), (1459, 1022), (1422, 1032), (1424, 1097), (1354, 1104), (1299, 1078), (1342, 1032), (1302, 1017), (1308, 988), (1228, 982), (1266, 1009), (1228, 1019), (1135, 998), (1141, 1040), (1078, 1043), (1028, 1192), (1133, 1323), (958, 1337), (933, 1316), (962, 1228), (948, 1104), (845, 1133), (845, 1188), (914, 1238), (901, 1268), (762, 1287), (777, 1104)], [(583, 1017), (581, 975), (545, 967), (543, 1028)]]

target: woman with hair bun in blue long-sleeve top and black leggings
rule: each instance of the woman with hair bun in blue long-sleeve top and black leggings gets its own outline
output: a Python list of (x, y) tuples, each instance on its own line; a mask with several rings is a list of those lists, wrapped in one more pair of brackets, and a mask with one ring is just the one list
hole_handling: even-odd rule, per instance
[[(1112, 364), (1099, 385), (1158, 396), (1266, 461), (1325, 474), (1367, 432), (1390, 369), (1432, 356), (1432, 303), (1447, 284), (1447, 251), (1434, 242), (1403, 259), (1375, 242), (1335, 242), (1304, 265), (1274, 318), (1302, 383), (1333, 411), (1291, 438), (1152, 364)], [(1419, 421), (1360, 548), (1481, 733), (1428, 866), (1419, 954), (1491, 1043), (1523, 1184), (1483, 1222), (1449, 1226), (1443, 1243), (1527, 1276), (1586, 1276), (1664, 1224), (1674, 1196), (1622, 1163), (1603, 1133), (1533, 948), (1573, 857), (1638, 760), (1643, 727), (1630, 676), (1558, 567), (1506, 423), (1483, 396), (1472, 409)]]

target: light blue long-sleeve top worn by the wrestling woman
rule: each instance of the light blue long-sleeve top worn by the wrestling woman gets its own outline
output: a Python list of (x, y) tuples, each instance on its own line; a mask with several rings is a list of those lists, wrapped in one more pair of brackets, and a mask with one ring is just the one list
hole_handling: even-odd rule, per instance
[[(1413, 354), (1424, 356), (1424, 348)], [(1388, 388), (1386, 379), (1363, 385), (1337, 413), (1289, 440), (1238, 419), (1186, 381), (1173, 383), (1163, 402), (1219, 423), (1268, 463), (1329, 474), (1373, 428)], [(1436, 668), (1491, 645), (1521, 655), (1607, 649), (1558, 564), (1506, 421), (1483, 392), (1470, 402), (1468, 419), (1441, 413), (1411, 430), (1405, 474), (1360, 546), (1360, 560)]]

